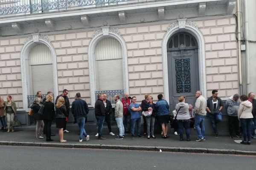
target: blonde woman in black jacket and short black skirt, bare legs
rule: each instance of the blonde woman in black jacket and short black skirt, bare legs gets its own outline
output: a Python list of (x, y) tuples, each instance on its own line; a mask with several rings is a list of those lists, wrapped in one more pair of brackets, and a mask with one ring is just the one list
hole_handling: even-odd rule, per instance
[(66, 122), (67, 122), (67, 109), (64, 103), (65, 103), (64, 98), (60, 96), (55, 106), (56, 107), (56, 127), (59, 129), (58, 133), (60, 137), (60, 142), (67, 142), (66, 140), (63, 139), (63, 128), (66, 127)]

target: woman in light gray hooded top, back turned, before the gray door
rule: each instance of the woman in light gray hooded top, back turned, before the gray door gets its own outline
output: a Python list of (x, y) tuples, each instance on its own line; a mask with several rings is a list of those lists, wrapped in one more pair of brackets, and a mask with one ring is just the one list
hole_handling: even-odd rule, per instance
[(177, 111), (176, 119), (179, 126), (180, 141), (183, 141), (183, 128), (186, 130), (186, 140), (190, 141), (190, 114), (189, 104), (185, 103), (185, 97), (179, 97), (179, 103), (175, 106)]

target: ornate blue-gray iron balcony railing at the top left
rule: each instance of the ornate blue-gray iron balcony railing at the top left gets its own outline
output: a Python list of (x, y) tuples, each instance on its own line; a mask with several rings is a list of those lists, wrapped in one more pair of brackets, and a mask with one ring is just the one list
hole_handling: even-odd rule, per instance
[(63, 11), (84, 7), (117, 5), (128, 1), (134, 0), (0, 0), (0, 15)]

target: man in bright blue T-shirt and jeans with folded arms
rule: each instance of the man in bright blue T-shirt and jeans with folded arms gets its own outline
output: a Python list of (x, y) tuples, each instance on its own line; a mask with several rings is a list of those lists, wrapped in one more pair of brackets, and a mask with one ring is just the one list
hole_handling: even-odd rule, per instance
[(137, 125), (137, 134), (138, 137), (144, 137), (140, 135), (140, 126), (141, 126), (141, 120), (140, 120), (140, 112), (141, 111), (141, 107), (139, 104), (136, 103), (137, 99), (135, 96), (133, 96), (131, 98), (131, 104), (130, 104), (130, 108), (131, 108), (131, 139), (134, 139), (134, 133), (135, 133), (135, 124)]

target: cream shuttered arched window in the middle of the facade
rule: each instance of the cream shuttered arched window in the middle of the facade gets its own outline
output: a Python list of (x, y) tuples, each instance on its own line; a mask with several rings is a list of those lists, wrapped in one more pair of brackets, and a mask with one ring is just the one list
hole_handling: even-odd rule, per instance
[(95, 48), (96, 91), (123, 90), (122, 46), (114, 38), (102, 39)]

